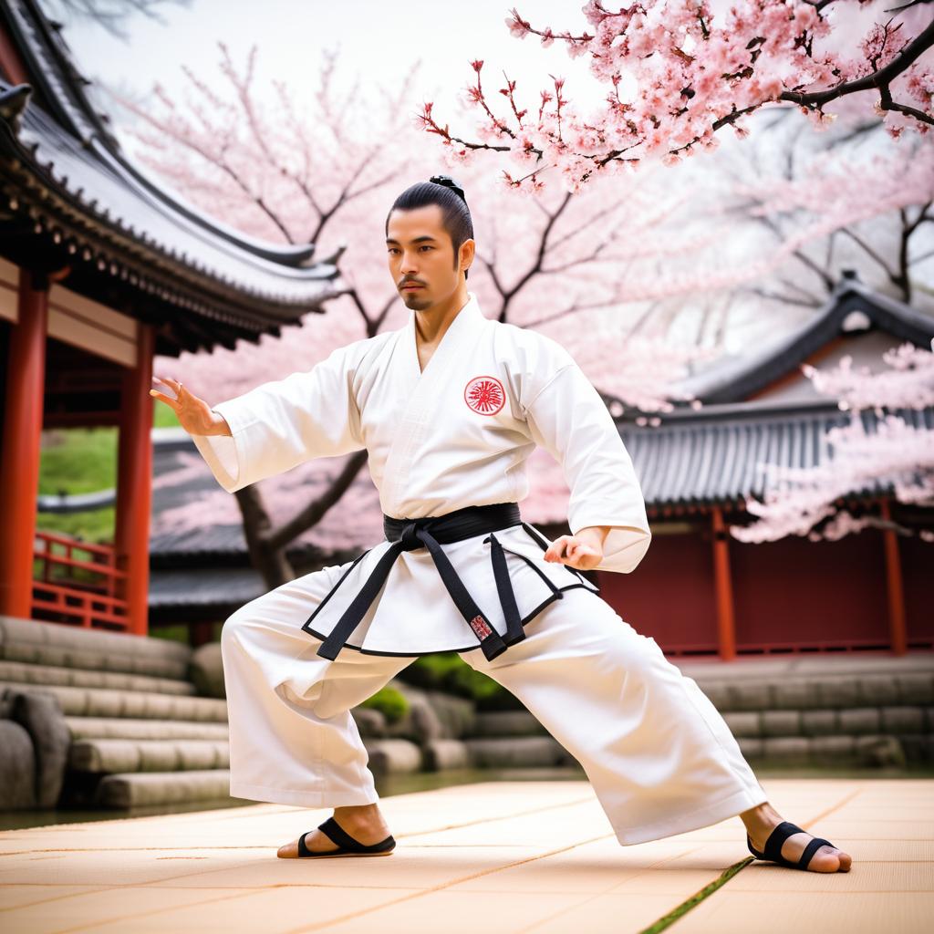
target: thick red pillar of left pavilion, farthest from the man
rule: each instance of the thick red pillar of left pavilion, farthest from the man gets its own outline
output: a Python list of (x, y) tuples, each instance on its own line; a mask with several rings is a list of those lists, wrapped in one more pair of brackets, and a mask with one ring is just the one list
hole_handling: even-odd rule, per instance
[(7, 361), (7, 403), (0, 463), (0, 613), (28, 619), (33, 601), (35, 498), (45, 399), (47, 282), (20, 270), (17, 323)]

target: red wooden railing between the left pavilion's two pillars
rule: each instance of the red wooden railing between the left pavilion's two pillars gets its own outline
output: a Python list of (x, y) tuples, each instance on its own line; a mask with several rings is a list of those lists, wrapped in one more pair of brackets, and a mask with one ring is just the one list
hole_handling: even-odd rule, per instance
[[(82, 554), (88, 557), (76, 557)], [(126, 572), (117, 567), (113, 545), (89, 545), (57, 532), (36, 531), (33, 557), (33, 619), (127, 630), (127, 601), (120, 596)]]

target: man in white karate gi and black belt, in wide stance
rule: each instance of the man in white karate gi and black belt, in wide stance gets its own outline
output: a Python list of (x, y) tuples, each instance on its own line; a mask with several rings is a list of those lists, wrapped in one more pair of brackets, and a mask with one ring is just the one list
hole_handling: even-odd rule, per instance
[[(278, 856), (382, 856), (395, 841), (350, 709), (412, 658), (457, 650), (514, 693), (587, 772), (624, 845), (739, 814), (751, 852), (849, 870), (782, 817), (714, 705), (580, 572), (629, 573), (651, 533), (632, 463), (599, 393), (542, 334), (485, 318), (466, 287), (474, 231), (436, 176), (386, 221), (398, 331), (211, 409), (173, 379), (176, 411), (233, 491), (365, 447), (387, 539), (250, 601), (221, 645), (231, 794), (333, 808)], [(573, 534), (518, 516), (536, 445), (561, 463)], [(477, 651), (477, 649), (481, 651)]]

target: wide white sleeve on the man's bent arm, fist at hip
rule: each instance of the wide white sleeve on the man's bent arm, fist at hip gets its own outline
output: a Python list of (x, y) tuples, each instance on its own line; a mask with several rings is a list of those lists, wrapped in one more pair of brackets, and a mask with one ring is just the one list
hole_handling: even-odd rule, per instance
[(610, 527), (596, 570), (634, 570), (652, 533), (629, 451), (600, 393), (576, 362), (567, 363), (525, 412), (532, 440), (558, 461), (571, 489), (572, 534), (587, 526)]

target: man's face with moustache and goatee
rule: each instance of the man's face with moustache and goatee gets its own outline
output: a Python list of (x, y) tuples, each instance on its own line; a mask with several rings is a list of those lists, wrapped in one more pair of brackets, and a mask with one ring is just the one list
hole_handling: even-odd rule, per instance
[[(460, 264), (454, 260), (454, 247), (442, 217), (440, 205), (410, 211), (397, 208), (389, 215), (389, 274), (405, 305), (418, 311), (444, 301), (460, 284)], [(463, 248), (461, 245), (461, 254)], [(406, 288), (407, 284), (417, 288)]]

